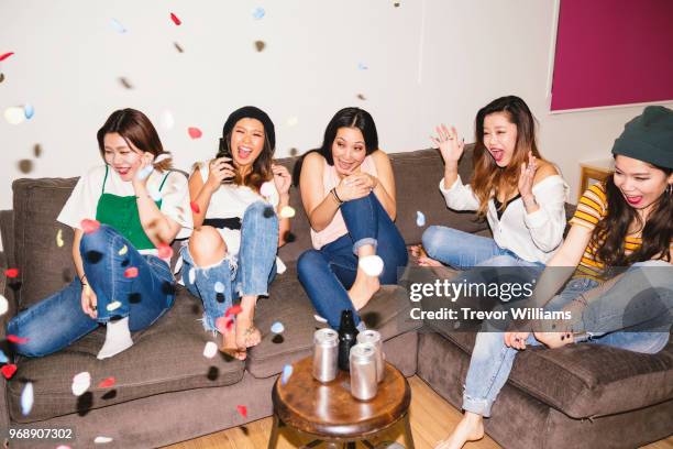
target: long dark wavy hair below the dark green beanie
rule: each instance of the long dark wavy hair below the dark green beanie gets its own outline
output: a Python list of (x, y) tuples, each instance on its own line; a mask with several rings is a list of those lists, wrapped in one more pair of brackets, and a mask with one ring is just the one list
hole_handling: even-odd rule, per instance
[[(666, 178), (672, 168), (652, 165), (661, 169)], [(607, 216), (598, 222), (589, 245), (597, 248), (596, 255), (608, 266), (629, 266), (636, 262), (649, 261), (655, 256), (671, 262), (671, 238), (673, 237), (673, 194), (669, 187), (657, 199), (647, 221), (643, 223), (636, 209), (627, 204), (613, 176), (604, 183), (607, 197)], [(638, 223), (642, 229), (642, 244), (631, 254), (625, 254), (624, 241), (629, 233), (629, 227)]]

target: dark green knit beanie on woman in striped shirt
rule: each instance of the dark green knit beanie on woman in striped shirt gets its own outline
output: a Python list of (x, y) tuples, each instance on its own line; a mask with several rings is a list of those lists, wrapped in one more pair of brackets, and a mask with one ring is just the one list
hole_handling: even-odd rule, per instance
[(673, 111), (663, 106), (648, 106), (624, 127), (613, 154), (673, 168)]

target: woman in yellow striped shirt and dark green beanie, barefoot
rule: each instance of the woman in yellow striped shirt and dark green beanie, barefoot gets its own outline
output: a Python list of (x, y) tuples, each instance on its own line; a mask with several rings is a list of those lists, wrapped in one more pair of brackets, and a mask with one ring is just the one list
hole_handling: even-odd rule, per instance
[[(536, 305), (570, 311), (572, 318), (555, 327), (519, 324), (518, 331), (479, 332), (465, 380), (465, 415), (437, 448), (456, 449), (483, 437), (483, 419), (527, 344), (588, 341), (642, 353), (666, 346), (673, 309), (673, 111), (646, 108), (626, 124), (613, 154), (614, 176), (584, 193), (533, 296)], [(628, 270), (606, 282), (609, 267)]]

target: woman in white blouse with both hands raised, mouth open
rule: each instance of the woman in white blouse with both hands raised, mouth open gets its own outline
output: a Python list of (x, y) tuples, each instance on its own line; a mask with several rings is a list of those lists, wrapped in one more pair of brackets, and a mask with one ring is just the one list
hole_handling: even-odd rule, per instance
[(474, 176), (468, 185), (457, 174), (464, 140), (453, 127), (437, 127), (432, 141), (444, 160), (439, 187), (451, 209), (486, 216), (493, 239), (431, 226), (422, 237), (427, 255), (416, 249), (419, 264), (441, 262), (465, 270), (499, 258), (497, 264), (541, 266), (563, 241), (567, 184), (541, 158), (534, 118), (519, 97), (492, 101), (477, 112), (475, 124)]

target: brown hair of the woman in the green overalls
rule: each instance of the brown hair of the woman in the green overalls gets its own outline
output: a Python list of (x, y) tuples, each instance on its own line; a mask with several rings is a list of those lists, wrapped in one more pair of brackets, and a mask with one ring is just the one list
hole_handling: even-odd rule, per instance
[[(161, 154), (169, 154), (164, 151), (162, 141), (156, 132), (156, 129), (144, 113), (139, 110), (126, 108), (119, 109), (110, 117), (106, 123), (98, 130), (96, 134), (98, 138), (98, 149), (100, 155), (106, 158), (106, 134), (118, 133), (126, 142), (129, 147), (131, 143), (140, 151), (146, 151), (154, 155), (154, 158)], [(173, 164), (170, 158), (155, 164), (154, 167), (159, 171), (166, 171), (172, 168)]]

